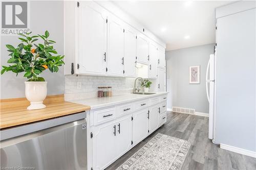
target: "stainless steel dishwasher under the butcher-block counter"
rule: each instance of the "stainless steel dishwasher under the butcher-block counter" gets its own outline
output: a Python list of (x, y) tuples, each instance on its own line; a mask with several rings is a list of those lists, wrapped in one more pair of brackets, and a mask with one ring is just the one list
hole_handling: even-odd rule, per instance
[(0, 133), (1, 169), (87, 169), (86, 112)]

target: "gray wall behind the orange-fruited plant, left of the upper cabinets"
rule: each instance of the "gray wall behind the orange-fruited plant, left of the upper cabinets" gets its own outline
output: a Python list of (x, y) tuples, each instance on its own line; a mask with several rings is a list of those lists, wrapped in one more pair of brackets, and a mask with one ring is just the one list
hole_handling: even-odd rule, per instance
[[(33, 34), (44, 34), (50, 32), (50, 38), (57, 43), (54, 45), (58, 54), (63, 55), (63, 2), (62, 1), (30, 1), (30, 29)], [(36, 41), (39, 42), (39, 41)], [(7, 65), (9, 58), (6, 44), (17, 45), (20, 41), (17, 36), (1, 36), (1, 66)], [(2, 68), (2, 67), (1, 67)], [(1, 76), (1, 99), (25, 97), (24, 74), (6, 72)], [(65, 92), (64, 66), (56, 73), (46, 70), (41, 77), (47, 83), (48, 94), (63, 94)]]

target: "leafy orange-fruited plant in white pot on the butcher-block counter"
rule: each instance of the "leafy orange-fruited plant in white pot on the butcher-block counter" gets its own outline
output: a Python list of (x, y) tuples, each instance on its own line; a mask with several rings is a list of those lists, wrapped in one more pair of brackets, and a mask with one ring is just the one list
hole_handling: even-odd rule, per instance
[[(53, 40), (49, 40), (49, 32), (46, 31), (45, 35), (31, 36), (32, 32), (26, 34), (19, 34), (22, 37), (18, 39), (22, 43), (14, 46), (7, 44), (8, 52), (10, 52), (10, 59), (7, 63), (9, 66), (3, 66), (1, 75), (4, 72), (12, 71), (16, 76), (25, 72), (24, 77), (28, 80), (25, 82), (25, 94), (30, 106), (28, 110), (42, 109), (46, 106), (42, 103), (47, 95), (47, 82), (42, 77), (39, 77), (42, 71), (49, 69), (51, 72), (57, 72), (58, 67), (64, 64), (63, 57), (57, 55), (56, 50), (52, 44)], [(35, 44), (37, 38), (41, 38), (43, 43)]]

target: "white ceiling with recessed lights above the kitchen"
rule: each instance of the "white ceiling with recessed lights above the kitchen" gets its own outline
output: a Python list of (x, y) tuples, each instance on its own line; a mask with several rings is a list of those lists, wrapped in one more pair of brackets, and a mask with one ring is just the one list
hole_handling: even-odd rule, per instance
[(215, 8), (230, 1), (113, 1), (166, 43), (166, 51), (215, 42)]

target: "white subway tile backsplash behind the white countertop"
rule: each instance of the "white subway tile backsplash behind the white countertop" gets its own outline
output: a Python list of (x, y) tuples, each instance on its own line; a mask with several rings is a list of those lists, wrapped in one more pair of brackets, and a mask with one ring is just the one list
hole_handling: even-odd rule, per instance
[(66, 75), (65, 99), (86, 99), (97, 97), (98, 86), (111, 86), (113, 95), (130, 93), (135, 78)]

